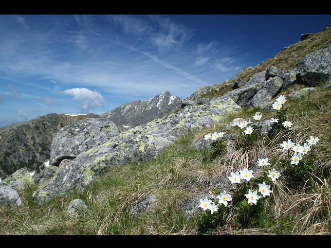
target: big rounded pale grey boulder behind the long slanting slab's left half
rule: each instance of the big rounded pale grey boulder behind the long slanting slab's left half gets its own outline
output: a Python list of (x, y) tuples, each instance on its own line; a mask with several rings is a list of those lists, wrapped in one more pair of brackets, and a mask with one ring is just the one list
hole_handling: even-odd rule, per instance
[(75, 158), (119, 133), (107, 118), (88, 118), (63, 127), (54, 134), (50, 164), (58, 166), (62, 159)]

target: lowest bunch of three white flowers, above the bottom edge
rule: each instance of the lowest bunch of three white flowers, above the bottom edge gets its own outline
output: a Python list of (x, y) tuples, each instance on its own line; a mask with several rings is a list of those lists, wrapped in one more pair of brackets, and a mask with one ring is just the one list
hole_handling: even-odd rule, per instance
[(226, 193), (225, 190), (217, 196), (215, 196), (215, 194), (211, 191), (209, 191), (209, 194), (211, 195), (211, 199), (208, 199), (207, 196), (205, 196), (204, 199), (200, 199), (199, 207), (202, 208), (203, 211), (210, 210), (211, 214), (219, 210), (220, 204), (223, 204), (226, 207), (228, 205), (228, 201), (232, 201), (231, 195)]

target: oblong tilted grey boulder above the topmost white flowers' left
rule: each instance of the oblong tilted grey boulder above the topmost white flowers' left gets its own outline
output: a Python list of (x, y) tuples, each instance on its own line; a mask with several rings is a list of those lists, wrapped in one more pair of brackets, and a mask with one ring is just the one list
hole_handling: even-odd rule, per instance
[(268, 104), (276, 93), (283, 86), (283, 79), (278, 76), (270, 77), (267, 82), (262, 86), (260, 90), (251, 99), (249, 106), (251, 107), (263, 107)]

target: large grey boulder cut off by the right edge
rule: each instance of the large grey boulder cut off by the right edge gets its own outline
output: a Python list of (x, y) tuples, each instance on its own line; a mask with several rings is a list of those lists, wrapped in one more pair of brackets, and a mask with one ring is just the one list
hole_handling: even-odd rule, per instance
[(316, 50), (296, 64), (298, 77), (308, 86), (316, 87), (331, 80), (331, 47)]

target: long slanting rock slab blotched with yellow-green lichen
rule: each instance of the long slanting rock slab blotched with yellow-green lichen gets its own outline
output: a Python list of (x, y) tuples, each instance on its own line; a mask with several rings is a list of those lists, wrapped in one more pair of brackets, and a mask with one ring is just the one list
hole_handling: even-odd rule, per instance
[(42, 196), (66, 193), (74, 187), (86, 187), (111, 167), (131, 161), (147, 160), (159, 154), (184, 132), (220, 122), (230, 112), (240, 110), (232, 99), (214, 99), (201, 106), (186, 106), (179, 112), (142, 124), (111, 137), (102, 145), (79, 154), (63, 167), (39, 191)]

